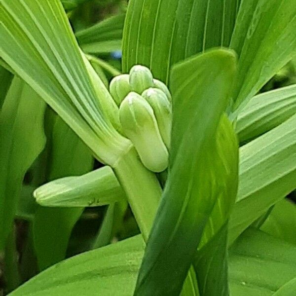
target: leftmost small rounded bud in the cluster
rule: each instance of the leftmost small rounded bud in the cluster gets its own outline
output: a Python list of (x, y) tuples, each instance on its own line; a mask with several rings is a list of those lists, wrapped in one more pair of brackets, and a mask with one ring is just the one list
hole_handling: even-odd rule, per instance
[(129, 75), (122, 74), (114, 77), (110, 82), (109, 90), (113, 100), (119, 106), (132, 90), (129, 83)]

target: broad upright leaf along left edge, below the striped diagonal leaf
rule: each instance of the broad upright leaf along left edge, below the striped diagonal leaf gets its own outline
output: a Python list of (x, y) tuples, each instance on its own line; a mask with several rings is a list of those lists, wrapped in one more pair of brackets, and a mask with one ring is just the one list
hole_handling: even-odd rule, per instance
[(16, 213), (26, 171), (45, 145), (45, 104), (15, 77), (0, 113), (0, 251)]

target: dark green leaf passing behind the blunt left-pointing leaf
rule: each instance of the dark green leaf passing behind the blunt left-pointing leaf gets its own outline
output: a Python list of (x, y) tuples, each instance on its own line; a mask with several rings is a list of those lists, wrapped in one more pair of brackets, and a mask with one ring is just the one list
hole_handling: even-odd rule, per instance
[[(74, 132), (58, 118), (54, 124), (49, 163), (49, 180), (83, 174), (93, 167), (90, 150)], [(83, 208), (37, 209), (33, 231), (37, 261), (41, 270), (65, 259), (68, 241)]]

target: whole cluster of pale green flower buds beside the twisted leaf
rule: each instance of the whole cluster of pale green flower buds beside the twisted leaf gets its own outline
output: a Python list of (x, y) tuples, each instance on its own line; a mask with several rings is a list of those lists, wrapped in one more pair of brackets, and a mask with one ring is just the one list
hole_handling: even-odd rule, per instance
[(110, 93), (119, 106), (122, 131), (134, 144), (143, 164), (153, 172), (168, 166), (172, 98), (167, 86), (150, 70), (134, 66), (113, 78)]

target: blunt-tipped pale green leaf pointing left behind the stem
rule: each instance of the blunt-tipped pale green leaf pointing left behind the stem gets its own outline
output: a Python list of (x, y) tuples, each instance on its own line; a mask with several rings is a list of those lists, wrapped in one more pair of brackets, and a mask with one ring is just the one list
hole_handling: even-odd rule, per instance
[(38, 204), (47, 207), (97, 207), (125, 200), (109, 166), (82, 176), (54, 180), (37, 188), (34, 196)]

